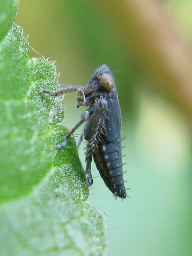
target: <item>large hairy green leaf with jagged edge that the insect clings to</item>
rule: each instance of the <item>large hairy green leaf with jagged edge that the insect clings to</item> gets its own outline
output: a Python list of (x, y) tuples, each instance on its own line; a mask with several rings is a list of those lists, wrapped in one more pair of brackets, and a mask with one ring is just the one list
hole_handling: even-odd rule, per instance
[(67, 133), (58, 125), (62, 100), (39, 93), (40, 88), (57, 90), (55, 67), (29, 57), (20, 27), (13, 24), (6, 32), (16, 8), (5, 6), (9, 21), (0, 30), (6, 35), (0, 43), (0, 255), (102, 255), (103, 218), (85, 203), (88, 189), (75, 140), (57, 150)]

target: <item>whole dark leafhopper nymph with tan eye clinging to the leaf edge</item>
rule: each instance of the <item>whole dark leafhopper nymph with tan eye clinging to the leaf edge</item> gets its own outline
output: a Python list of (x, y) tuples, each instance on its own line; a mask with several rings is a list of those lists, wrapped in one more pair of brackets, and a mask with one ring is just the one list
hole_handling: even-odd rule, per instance
[(64, 147), (75, 130), (85, 122), (78, 146), (84, 137), (87, 140), (86, 185), (93, 184), (91, 174), (93, 158), (100, 176), (114, 196), (126, 198), (121, 153), (121, 110), (117, 86), (111, 70), (103, 64), (95, 70), (86, 86), (60, 85), (60, 87), (57, 92), (41, 88), (40, 93), (59, 96), (76, 91), (78, 101), (76, 107), (87, 106), (88, 109), (81, 114), (80, 121), (69, 131), (58, 148)]

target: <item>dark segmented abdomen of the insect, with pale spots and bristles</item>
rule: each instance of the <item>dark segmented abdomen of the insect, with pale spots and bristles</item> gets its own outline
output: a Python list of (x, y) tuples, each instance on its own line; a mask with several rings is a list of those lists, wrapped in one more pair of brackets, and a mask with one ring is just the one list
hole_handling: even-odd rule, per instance
[(110, 143), (101, 140), (94, 149), (93, 158), (106, 186), (115, 196), (126, 198), (121, 150), (121, 138)]

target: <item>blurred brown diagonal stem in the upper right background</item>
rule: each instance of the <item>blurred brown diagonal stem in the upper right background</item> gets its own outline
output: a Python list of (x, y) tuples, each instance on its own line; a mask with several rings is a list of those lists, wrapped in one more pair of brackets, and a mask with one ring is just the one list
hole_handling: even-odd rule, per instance
[[(192, 120), (192, 54), (160, 1), (99, 0), (155, 90)], [(174, 26), (173, 26), (174, 24)], [(125, 47), (127, 47), (125, 45)]]

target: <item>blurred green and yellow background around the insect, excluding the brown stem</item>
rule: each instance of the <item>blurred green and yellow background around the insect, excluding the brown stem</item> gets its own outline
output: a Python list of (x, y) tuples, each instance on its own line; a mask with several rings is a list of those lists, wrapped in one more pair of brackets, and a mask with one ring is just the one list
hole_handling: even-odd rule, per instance
[[(118, 23), (118, 13), (117, 20), (110, 17), (116, 11), (113, 1), (106, 2), (21, 0), (16, 24), (22, 26), (26, 36), (30, 34), (31, 47), (45, 58), (57, 60), (60, 83), (86, 85), (101, 64), (107, 64), (116, 79), (122, 137), (126, 137), (124, 178), (129, 180), (126, 186), (131, 188), (131, 198), (115, 201), (92, 164), (94, 185), (88, 203), (105, 216), (106, 255), (190, 256), (191, 120), (171, 97), (155, 89), (154, 73), (151, 78), (144, 68), (146, 60), (143, 58), (142, 63), (142, 58), (135, 58), (135, 27), (126, 34)], [(167, 15), (180, 24), (178, 31), (185, 41), (191, 41), (191, 1), (160, 2)], [(31, 50), (31, 57), (37, 56)], [(155, 59), (151, 61), (158, 68)], [(75, 109), (75, 105), (75, 93), (66, 95), (63, 124), (68, 128), (84, 111), (83, 107)], [(83, 147), (79, 154), (85, 166)]]

